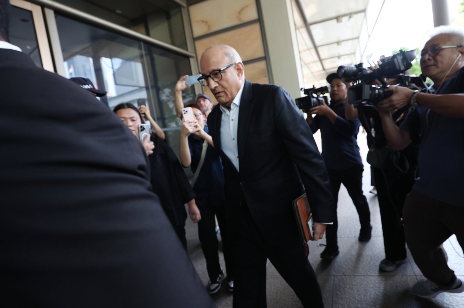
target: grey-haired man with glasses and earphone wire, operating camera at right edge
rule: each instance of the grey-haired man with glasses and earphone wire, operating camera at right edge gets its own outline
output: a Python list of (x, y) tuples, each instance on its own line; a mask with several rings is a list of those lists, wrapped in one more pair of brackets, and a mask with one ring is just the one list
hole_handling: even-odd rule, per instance
[[(464, 32), (440, 26), (421, 51), (420, 67), (434, 84), (431, 93), (393, 87), (379, 103), (385, 135), (393, 149), (408, 146), (418, 135), (420, 177), (403, 209), (406, 242), (426, 279), (415, 295), (432, 298), (441, 292), (461, 293), (463, 283), (448, 267), (441, 244), (452, 234), (464, 244)], [(391, 110), (410, 104), (416, 111), (398, 128)], [(416, 121), (414, 121), (416, 118)], [(419, 121), (417, 121), (419, 120)]]

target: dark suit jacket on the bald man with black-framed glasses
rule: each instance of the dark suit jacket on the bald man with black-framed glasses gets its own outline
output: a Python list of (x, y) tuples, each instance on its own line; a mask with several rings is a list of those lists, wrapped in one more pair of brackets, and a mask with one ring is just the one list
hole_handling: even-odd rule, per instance
[(221, 117), (216, 105), (208, 125), (223, 159), (232, 228), (244, 199), (268, 241), (297, 236), (291, 201), (304, 192), (303, 185), (314, 220), (333, 222), (335, 205), (324, 161), (287, 91), (245, 80), (238, 111), (239, 173), (220, 149)]

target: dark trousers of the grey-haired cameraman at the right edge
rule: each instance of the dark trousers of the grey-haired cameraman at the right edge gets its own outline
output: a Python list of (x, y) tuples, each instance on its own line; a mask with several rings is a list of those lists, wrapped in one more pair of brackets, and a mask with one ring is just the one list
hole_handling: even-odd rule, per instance
[(445, 289), (456, 282), (441, 244), (456, 234), (464, 248), (464, 206), (440, 202), (416, 190), (403, 209), (406, 243), (424, 276)]

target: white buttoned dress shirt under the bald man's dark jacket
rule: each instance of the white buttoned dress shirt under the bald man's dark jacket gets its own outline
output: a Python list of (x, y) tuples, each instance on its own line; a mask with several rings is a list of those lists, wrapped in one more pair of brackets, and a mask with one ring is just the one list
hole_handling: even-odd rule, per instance
[(242, 98), (243, 87), (237, 93), (237, 96), (232, 101), (231, 110), (220, 105), (222, 111), (221, 118), (221, 149), (224, 154), (232, 161), (234, 167), (238, 169), (238, 145), (237, 145), (237, 130), (238, 130), (238, 109), (240, 107), (240, 99)]

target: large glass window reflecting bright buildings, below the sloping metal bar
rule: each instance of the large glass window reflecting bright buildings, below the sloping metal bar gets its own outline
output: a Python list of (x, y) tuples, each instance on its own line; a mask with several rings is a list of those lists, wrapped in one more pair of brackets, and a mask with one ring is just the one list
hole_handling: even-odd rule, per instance
[[(191, 75), (185, 56), (135, 39), (55, 14), (66, 77), (89, 78), (111, 109), (119, 103), (147, 103), (155, 121), (166, 131), (176, 154), (180, 146), (180, 119), (174, 109), (174, 88), (182, 75)], [(183, 93), (193, 103), (193, 87)]]

